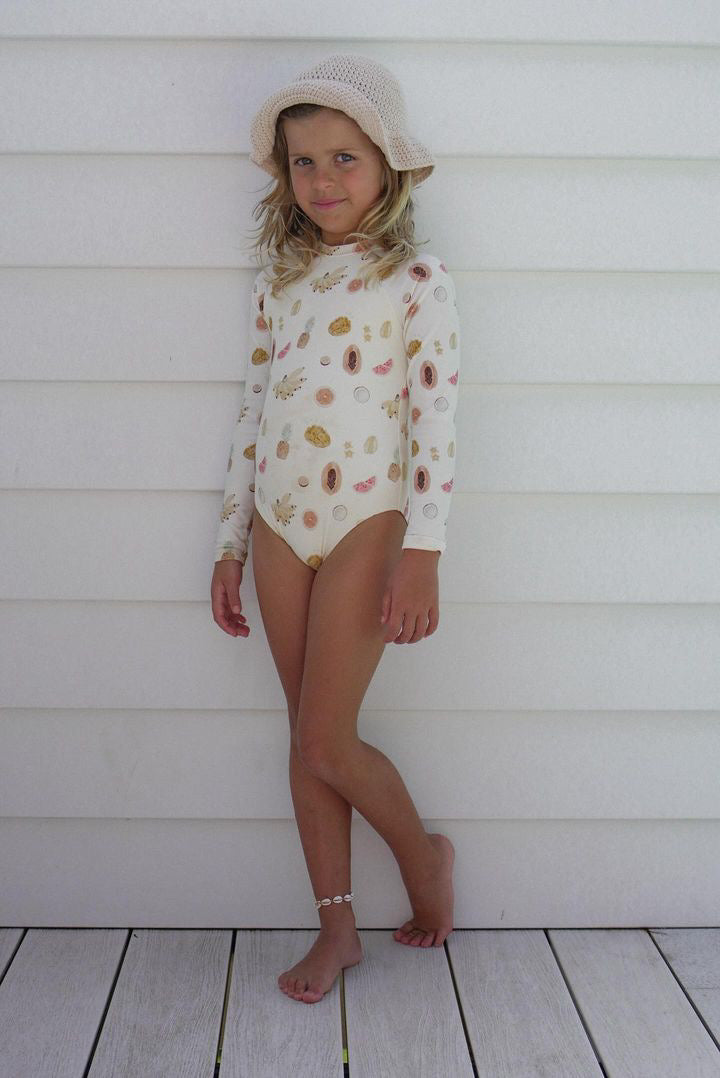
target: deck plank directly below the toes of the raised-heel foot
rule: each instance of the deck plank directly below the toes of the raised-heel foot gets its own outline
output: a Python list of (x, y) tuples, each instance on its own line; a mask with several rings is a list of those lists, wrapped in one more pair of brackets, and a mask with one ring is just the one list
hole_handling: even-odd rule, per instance
[(413, 948), (362, 929), (364, 957), (345, 970), (352, 1078), (472, 1078), (444, 948)]

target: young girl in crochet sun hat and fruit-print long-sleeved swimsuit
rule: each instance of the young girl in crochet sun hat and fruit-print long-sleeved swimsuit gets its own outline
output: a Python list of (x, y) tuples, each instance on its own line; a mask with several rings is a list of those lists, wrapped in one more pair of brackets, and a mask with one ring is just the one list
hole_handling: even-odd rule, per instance
[(412, 916), (394, 939), (453, 929), (454, 848), (428, 834), (357, 718), (389, 642), (439, 622), (438, 562), (455, 466), (455, 286), (416, 253), (411, 199), (434, 167), (405, 130), (382, 65), (334, 55), (265, 101), (251, 160), (275, 177), (258, 247), (245, 399), (227, 465), (212, 612), (248, 636), (252, 568), (290, 717), (290, 788), (320, 932), (278, 977), (316, 1003), (360, 962), (350, 890), (352, 806), (394, 854)]

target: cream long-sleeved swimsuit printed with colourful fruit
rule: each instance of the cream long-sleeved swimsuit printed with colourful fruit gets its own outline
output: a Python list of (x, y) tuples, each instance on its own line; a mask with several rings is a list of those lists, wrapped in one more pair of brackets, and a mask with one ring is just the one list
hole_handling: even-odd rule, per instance
[(364, 260), (356, 244), (323, 245), (279, 296), (265, 271), (253, 281), (216, 562), (245, 564), (253, 508), (314, 569), (360, 521), (388, 509), (406, 521), (403, 549), (445, 550), (460, 355), (455, 285), (426, 252), (368, 286)]

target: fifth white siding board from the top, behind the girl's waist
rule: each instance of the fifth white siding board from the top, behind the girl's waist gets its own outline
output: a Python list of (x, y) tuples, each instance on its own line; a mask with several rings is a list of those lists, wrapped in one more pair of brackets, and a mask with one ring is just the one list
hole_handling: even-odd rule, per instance
[[(0, 486), (207, 490), (224, 483), (243, 393), (39, 382), (3, 398)], [(720, 386), (465, 385), (455, 489), (716, 494), (719, 409)]]

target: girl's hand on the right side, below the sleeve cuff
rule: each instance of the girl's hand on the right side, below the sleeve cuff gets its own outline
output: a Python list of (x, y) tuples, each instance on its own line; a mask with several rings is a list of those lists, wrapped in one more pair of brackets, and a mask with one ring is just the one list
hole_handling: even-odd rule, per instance
[(440, 622), (439, 551), (403, 550), (383, 596), (380, 623), (386, 644), (417, 644), (432, 636)]

